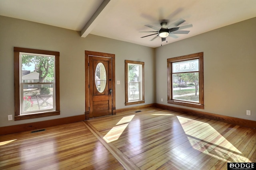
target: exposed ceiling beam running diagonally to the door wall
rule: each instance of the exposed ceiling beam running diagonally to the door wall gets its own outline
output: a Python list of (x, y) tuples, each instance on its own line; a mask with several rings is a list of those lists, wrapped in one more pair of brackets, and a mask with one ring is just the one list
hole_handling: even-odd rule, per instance
[[(112, 1), (112, 2), (110, 2)], [(114, 4), (114, 0), (104, 0), (90, 20), (86, 23), (84, 28), (81, 31), (81, 37), (86, 37), (92, 29), (99, 23), (101, 20), (104, 19), (105, 14), (111, 10)]]

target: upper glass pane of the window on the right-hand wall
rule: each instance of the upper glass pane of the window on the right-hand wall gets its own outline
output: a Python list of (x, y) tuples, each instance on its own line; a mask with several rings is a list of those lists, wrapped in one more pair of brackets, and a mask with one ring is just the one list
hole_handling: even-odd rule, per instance
[(181, 61), (177, 63), (172, 63), (172, 72), (192, 72), (199, 71), (199, 60)]

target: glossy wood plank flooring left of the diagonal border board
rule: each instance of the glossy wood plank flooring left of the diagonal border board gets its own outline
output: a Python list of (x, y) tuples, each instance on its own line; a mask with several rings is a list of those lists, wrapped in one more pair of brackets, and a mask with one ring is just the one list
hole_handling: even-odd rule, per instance
[[(14, 140), (14, 141), (12, 141)], [(3, 142), (7, 141), (6, 144)], [(9, 143), (8, 143), (9, 142)], [(0, 136), (1, 170), (124, 170), (83, 122)]]

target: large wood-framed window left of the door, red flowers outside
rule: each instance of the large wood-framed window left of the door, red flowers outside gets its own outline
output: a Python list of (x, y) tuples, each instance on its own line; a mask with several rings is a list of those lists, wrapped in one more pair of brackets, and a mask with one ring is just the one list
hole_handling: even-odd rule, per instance
[(14, 47), (15, 120), (60, 114), (59, 56)]

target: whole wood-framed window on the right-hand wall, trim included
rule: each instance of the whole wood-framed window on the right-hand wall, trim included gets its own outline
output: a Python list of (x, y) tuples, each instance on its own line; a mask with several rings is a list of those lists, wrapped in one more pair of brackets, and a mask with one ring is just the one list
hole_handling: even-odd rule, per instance
[(167, 59), (168, 103), (204, 109), (204, 53)]

